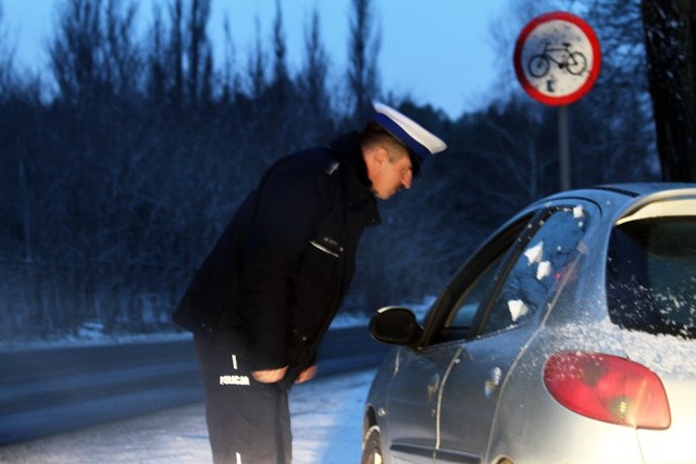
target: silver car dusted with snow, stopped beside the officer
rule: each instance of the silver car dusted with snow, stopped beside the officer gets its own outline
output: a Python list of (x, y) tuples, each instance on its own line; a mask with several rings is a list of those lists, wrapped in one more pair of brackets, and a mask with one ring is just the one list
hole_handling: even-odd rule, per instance
[(696, 463), (696, 184), (537, 201), (370, 331), (363, 463)]

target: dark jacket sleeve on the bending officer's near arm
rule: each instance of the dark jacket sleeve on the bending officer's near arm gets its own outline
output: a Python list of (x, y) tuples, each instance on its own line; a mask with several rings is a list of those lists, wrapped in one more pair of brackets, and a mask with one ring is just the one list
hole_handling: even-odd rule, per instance
[(293, 278), (321, 215), (312, 176), (296, 170), (277, 171), (262, 186), (243, 244), (243, 314), (254, 371), (288, 364)]

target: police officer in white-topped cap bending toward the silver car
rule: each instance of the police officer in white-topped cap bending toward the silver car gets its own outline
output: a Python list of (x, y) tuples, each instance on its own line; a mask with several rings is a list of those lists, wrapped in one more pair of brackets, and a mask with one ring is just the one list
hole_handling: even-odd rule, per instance
[(355, 271), (375, 199), (411, 187), (445, 142), (374, 104), (360, 133), (276, 162), (204, 260), (173, 319), (194, 333), (215, 464), (289, 463), (288, 391), (314, 358)]

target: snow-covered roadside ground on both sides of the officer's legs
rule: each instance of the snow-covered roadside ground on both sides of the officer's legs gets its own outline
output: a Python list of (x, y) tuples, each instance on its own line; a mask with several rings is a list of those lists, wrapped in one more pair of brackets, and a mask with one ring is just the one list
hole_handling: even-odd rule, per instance
[[(360, 462), (362, 407), (374, 369), (334, 375), (290, 392), (294, 463)], [(0, 448), (7, 464), (212, 463), (203, 403)]]

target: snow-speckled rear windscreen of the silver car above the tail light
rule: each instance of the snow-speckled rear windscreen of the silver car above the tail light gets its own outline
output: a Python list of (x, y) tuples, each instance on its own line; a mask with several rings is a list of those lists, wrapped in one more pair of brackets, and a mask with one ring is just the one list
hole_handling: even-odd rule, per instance
[(607, 296), (614, 324), (695, 338), (696, 218), (659, 217), (614, 228)]

